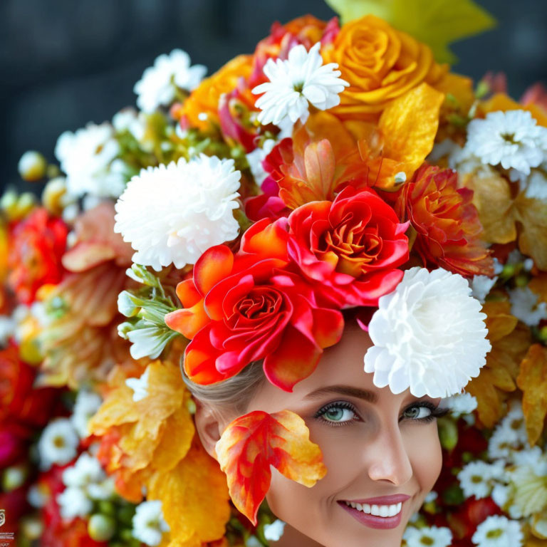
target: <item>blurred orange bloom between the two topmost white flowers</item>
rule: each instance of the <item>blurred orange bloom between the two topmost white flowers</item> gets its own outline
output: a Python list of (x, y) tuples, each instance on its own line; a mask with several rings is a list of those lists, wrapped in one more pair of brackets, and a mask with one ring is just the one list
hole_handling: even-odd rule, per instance
[[(239, 78), (247, 79), (251, 75), (253, 57), (239, 55), (226, 63), (209, 78), (205, 78), (184, 101), (179, 112), (190, 127), (207, 130), (211, 123), (219, 124), (219, 100), (223, 93), (229, 93), (236, 87)], [(254, 104), (254, 98), (251, 104)]]

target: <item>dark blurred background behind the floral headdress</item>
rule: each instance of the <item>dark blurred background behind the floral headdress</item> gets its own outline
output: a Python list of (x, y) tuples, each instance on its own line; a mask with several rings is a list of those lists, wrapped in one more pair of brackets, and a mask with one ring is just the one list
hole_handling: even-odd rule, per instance
[[(454, 44), (454, 71), (504, 71), (515, 98), (546, 83), (547, 0), (478, 3), (499, 24)], [(54, 160), (61, 132), (134, 105), (132, 87), (160, 53), (182, 48), (212, 73), (251, 53), (273, 21), (306, 13), (334, 15), (323, 0), (0, 0), (1, 187), (21, 185), (26, 150)]]

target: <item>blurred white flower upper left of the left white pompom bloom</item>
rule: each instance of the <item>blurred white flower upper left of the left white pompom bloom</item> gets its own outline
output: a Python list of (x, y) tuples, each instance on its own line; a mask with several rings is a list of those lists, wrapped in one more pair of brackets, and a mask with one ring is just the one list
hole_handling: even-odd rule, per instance
[(110, 164), (120, 154), (109, 123), (88, 123), (75, 133), (64, 132), (57, 140), (55, 155), (66, 173), (68, 194), (81, 197), (118, 197), (125, 187), (125, 179), (110, 170)]

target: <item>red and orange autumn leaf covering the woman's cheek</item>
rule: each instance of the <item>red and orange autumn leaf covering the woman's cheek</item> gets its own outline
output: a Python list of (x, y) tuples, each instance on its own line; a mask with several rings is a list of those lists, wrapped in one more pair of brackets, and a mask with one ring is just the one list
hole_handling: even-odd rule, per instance
[(256, 410), (236, 418), (217, 442), (216, 451), (231, 500), (255, 526), (270, 486), (270, 466), (308, 487), (327, 472), (321, 449), (309, 440), (306, 423), (289, 410), (272, 415)]

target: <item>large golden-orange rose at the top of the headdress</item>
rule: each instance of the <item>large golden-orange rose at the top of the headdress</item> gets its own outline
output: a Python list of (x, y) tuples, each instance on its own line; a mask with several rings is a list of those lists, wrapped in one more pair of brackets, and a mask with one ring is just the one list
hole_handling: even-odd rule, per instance
[(322, 53), (350, 83), (330, 109), (342, 119), (375, 120), (393, 99), (422, 82), (434, 86), (448, 71), (424, 43), (373, 15), (345, 24)]

